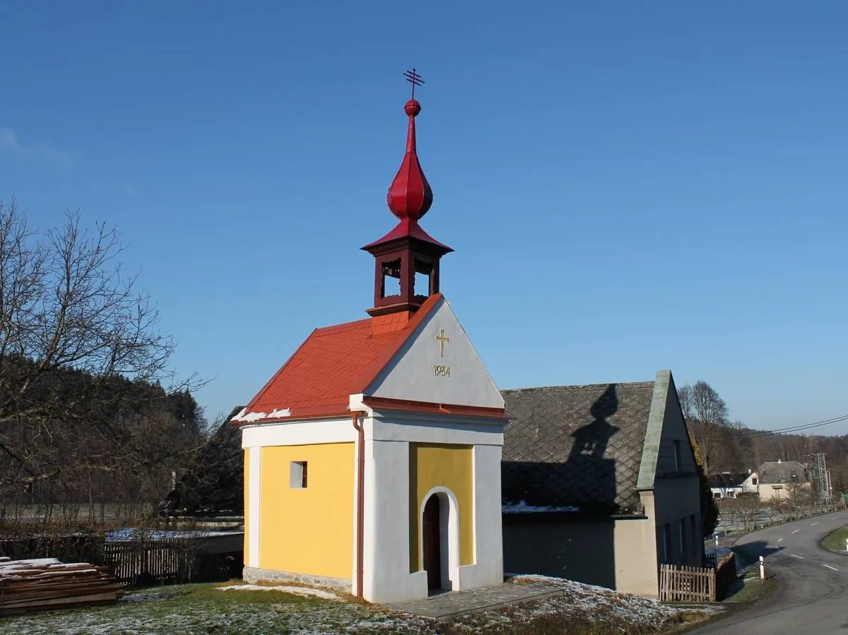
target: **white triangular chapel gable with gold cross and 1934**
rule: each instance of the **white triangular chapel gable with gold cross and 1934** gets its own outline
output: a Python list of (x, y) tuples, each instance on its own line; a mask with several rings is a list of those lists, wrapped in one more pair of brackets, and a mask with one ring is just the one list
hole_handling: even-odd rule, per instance
[(363, 393), (435, 404), (504, 407), (498, 387), (444, 298)]

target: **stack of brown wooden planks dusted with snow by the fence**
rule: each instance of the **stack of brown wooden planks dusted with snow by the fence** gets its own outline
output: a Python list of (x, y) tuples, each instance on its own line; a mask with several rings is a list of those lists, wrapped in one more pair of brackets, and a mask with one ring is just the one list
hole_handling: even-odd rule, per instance
[(0, 558), (0, 616), (114, 604), (123, 594), (109, 567)]

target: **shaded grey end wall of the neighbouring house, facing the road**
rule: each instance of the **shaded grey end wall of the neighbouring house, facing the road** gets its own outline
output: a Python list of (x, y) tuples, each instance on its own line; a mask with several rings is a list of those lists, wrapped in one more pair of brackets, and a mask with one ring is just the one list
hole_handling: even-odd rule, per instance
[(676, 395), (669, 393), (654, 480), (657, 555), (667, 564), (700, 566), (704, 541), (695, 453)]

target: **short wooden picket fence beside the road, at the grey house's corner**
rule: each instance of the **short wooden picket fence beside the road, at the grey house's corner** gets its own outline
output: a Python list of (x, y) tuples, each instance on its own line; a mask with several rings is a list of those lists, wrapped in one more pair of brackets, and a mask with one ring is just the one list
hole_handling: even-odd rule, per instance
[(736, 579), (734, 554), (708, 554), (709, 566), (660, 565), (661, 602), (715, 602)]

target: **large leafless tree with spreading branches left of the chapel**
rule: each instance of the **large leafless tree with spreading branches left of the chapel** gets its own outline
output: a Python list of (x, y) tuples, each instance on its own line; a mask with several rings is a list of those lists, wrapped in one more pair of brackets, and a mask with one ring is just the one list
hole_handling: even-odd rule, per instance
[(176, 388), (175, 343), (122, 270), (122, 251), (113, 228), (86, 229), (78, 212), (39, 233), (14, 199), (0, 202), (0, 486), (20, 491), (61, 474), (66, 495), (93, 509), (98, 474), (162, 460), (143, 454), (152, 441), (180, 448), (173, 425), (159, 437), (150, 421), (127, 425), (130, 411), (156, 419), (141, 402), (164, 397), (163, 382)]

